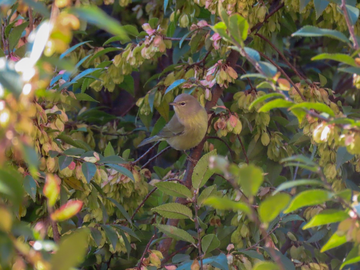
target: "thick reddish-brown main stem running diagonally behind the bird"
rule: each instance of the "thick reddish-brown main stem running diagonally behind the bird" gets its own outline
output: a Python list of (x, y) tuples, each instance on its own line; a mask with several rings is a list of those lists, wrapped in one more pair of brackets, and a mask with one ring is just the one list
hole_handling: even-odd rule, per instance
[[(239, 58), (239, 53), (235, 50), (231, 50), (227, 59), (229, 66), (234, 68), (238, 58)], [(207, 101), (205, 105), (205, 108), (207, 109), (208, 113), (210, 113), (210, 109), (216, 105), (217, 100), (219, 100), (223, 91), (224, 91), (223, 87), (220, 87), (219, 85), (214, 86), (212, 90), (211, 100)], [(205, 140), (206, 138), (204, 138), (196, 147), (192, 149), (190, 153), (190, 157), (193, 160), (198, 161), (200, 159)], [(183, 184), (187, 188), (191, 188), (192, 185), (191, 177), (193, 175), (194, 167), (195, 166), (192, 162), (188, 162), (188, 165), (186, 167), (186, 174), (183, 180)], [(186, 200), (185, 198), (177, 198), (176, 202), (181, 203), (181, 202), (185, 202), (185, 200)], [(166, 224), (171, 226), (177, 226), (178, 222), (179, 220), (177, 219), (168, 219)], [(171, 240), (172, 240), (171, 238), (163, 239), (159, 244), (158, 251), (162, 252), (163, 254), (167, 254), (170, 248)]]

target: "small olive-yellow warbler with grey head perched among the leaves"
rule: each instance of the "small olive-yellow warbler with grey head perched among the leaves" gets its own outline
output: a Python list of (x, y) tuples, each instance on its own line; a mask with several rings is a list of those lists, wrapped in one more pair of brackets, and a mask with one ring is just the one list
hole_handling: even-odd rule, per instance
[(167, 141), (176, 150), (188, 150), (204, 138), (208, 117), (196, 98), (180, 94), (169, 105), (174, 106), (174, 116), (157, 135), (141, 141), (138, 147), (154, 141)]

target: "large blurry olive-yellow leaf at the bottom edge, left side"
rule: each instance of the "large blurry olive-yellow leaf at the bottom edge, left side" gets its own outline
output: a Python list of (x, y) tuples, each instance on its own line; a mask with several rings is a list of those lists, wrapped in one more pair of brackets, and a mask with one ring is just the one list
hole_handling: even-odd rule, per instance
[(86, 229), (64, 235), (58, 251), (51, 256), (51, 269), (68, 270), (84, 261), (88, 235), (89, 231)]

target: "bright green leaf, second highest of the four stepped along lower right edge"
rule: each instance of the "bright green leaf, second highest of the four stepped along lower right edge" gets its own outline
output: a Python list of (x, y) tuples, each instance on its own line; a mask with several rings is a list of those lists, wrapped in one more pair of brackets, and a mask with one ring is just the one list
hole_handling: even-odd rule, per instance
[(315, 226), (340, 222), (347, 219), (348, 217), (349, 215), (343, 210), (325, 209), (318, 213), (318, 215), (313, 216), (311, 220), (302, 227), (302, 229), (306, 230)]

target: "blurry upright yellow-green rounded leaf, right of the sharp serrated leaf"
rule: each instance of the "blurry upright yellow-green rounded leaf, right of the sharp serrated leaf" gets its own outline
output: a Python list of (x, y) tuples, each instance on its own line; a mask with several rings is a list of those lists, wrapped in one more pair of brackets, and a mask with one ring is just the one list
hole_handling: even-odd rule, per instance
[(245, 195), (255, 195), (264, 181), (262, 170), (253, 164), (238, 170), (238, 184), (243, 189)]

